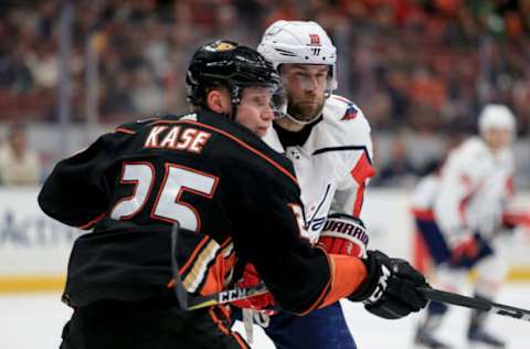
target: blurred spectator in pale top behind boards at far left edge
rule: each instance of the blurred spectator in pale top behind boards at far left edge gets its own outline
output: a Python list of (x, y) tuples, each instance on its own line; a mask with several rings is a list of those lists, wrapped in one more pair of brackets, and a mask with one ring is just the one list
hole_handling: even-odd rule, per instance
[(0, 184), (38, 184), (40, 171), (39, 157), (28, 146), (25, 127), (13, 124), (7, 141), (0, 145)]

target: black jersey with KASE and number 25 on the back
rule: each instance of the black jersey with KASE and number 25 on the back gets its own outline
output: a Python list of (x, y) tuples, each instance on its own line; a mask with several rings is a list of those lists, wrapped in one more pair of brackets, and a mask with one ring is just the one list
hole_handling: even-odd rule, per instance
[(179, 261), (189, 292), (222, 290), (236, 262), (253, 263), (289, 311), (315, 307), (330, 288), (327, 255), (299, 235), (292, 163), (218, 114), (116, 128), (59, 162), (39, 204), (61, 222), (94, 229), (71, 254), (64, 295), (72, 305), (168, 293), (176, 221), (187, 232)]

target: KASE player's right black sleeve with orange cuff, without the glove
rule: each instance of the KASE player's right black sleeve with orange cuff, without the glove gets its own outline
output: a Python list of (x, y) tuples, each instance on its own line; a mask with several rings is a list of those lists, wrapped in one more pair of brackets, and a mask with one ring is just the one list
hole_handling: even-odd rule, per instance
[[(224, 204), (239, 216), (234, 222), (234, 247), (240, 260), (255, 266), (286, 311), (305, 314), (327, 297), (338, 300), (351, 294), (364, 279), (365, 267), (358, 258), (340, 256), (335, 261), (324, 248), (311, 246), (305, 237), (294, 176), (261, 163), (245, 165), (239, 171), (232, 168), (240, 193), (226, 198)], [(237, 176), (243, 171), (246, 173)], [(292, 169), (287, 171), (293, 173)], [(348, 277), (339, 277), (341, 273)]]

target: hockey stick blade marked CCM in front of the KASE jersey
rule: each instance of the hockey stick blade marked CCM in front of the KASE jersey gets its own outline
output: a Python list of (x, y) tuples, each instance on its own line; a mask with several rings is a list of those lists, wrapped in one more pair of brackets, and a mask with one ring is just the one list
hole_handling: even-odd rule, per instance
[(265, 285), (248, 288), (232, 288), (208, 296), (192, 295), (186, 289), (182, 277), (180, 276), (180, 268), (177, 262), (177, 251), (179, 241), (179, 223), (174, 223), (171, 229), (171, 269), (174, 278), (173, 290), (179, 302), (179, 306), (184, 310), (200, 309), (220, 304), (227, 304), (235, 300), (246, 299), (254, 296), (259, 296), (267, 293)]

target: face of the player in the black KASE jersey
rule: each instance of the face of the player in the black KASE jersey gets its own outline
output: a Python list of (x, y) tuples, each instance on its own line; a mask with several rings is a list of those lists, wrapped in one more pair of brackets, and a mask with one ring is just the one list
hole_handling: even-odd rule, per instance
[(265, 136), (274, 118), (272, 97), (272, 89), (268, 87), (246, 87), (241, 95), (235, 120), (258, 137)]

